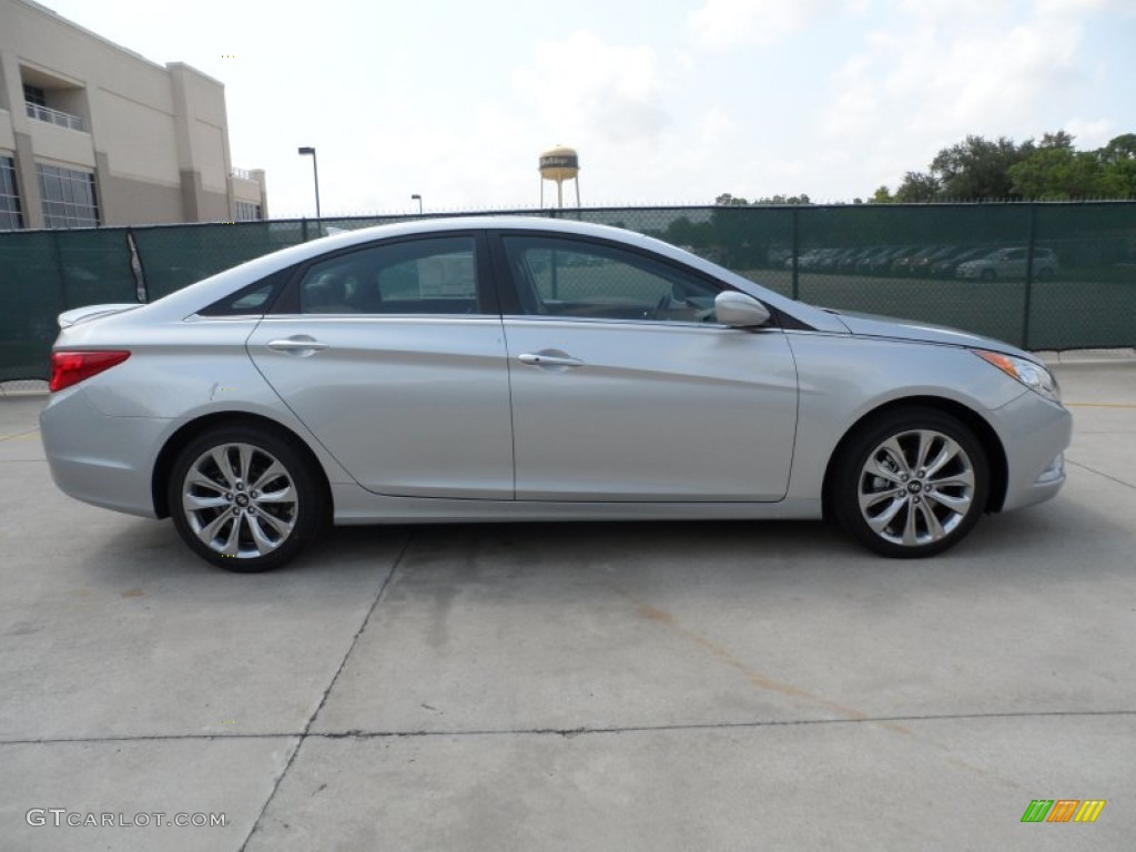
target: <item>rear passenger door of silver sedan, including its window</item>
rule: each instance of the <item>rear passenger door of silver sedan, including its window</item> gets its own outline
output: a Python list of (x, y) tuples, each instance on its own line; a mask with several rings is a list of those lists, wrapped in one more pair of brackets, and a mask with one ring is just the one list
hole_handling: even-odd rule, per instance
[[(445, 232), (308, 264), (249, 353), (364, 487), (512, 499), (501, 317), (484, 236)], [(282, 310), (278, 304), (275, 310)]]

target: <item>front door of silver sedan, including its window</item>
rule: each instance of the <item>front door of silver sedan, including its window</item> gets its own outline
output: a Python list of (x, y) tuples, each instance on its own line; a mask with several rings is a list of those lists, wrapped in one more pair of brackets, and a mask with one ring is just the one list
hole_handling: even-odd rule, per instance
[(725, 285), (585, 237), (501, 237), (518, 500), (776, 501), (797, 385), (779, 328), (715, 321)]

